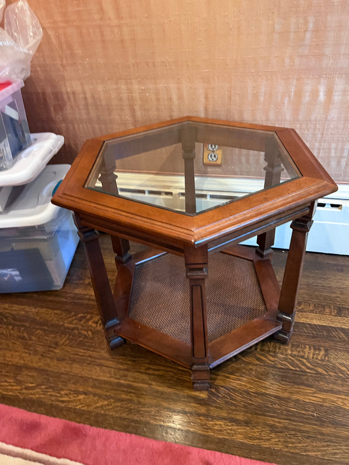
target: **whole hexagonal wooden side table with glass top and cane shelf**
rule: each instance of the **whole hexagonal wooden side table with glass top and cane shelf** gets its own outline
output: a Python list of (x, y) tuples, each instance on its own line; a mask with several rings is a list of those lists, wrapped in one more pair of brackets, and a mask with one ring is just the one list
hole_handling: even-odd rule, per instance
[[(289, 340), (317, 199), (336, 190), (291, 129), (186, 117), (86, 141), (52, 202), (75, 213), (110, 346), (146, 347), (206, 390), (210, 368)], [(280, 290), (271, 247), (290, 220)], [(114, 290), (96, 229), (112, 238)], [(132, 256), (130, 239), (151, 248)]]

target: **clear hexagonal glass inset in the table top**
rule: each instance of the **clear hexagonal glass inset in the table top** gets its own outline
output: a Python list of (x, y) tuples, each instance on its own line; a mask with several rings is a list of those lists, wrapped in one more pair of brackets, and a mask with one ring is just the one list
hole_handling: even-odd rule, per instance
[(298, 177), (275, 132), (185, 121), (106, 140), (85, 187), (193, 216)]

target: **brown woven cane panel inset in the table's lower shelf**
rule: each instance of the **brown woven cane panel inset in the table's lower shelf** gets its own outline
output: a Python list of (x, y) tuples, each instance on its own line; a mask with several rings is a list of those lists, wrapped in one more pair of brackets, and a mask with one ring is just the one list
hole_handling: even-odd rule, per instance
[[(266, 311), (253, 263), (218, 253), (208, 261), (208, 341)], [(189, 284), (184, 259), (166, 254), (136, 267), (129, 317), (190, 344)]]

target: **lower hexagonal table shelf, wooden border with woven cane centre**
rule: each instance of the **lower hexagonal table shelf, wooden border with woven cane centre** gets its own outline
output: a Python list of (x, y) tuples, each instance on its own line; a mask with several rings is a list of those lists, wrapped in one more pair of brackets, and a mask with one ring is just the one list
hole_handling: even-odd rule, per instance
[[(206, 279), (208, 365), (217, 366), (281, 329), (279, 285), (271, 262), (233, 247), (212, 254)], [(191, 367), (189, 287), (184, 260), (142, 252), (120, 264), (113, 334)]]

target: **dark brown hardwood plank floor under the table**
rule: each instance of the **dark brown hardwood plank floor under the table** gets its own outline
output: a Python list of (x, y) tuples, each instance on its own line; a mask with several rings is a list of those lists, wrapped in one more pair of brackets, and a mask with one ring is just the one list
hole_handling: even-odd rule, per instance
[(280, 465), (349, 464), (348, 328), (349, 258), (307, 254), (289, 344), (260, 342), (194, 392), (165, 358), (109, 350), (79, 245), (62, 290), (0, 295), (0, 403)]

